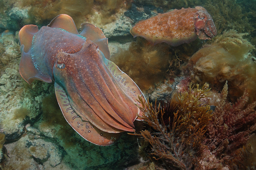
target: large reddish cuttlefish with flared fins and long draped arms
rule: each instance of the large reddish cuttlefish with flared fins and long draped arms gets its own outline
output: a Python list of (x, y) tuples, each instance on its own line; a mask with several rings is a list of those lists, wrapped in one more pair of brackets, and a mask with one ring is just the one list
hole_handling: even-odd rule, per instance
[(108, 39), (92, 24), (77, 32), (65, 14), (45, 27), (26, 25), (19, 32), (20, 75), (51, 83), (70, 126), (97, 145), (115, 143), (121, 132), (133, 131), (140, 115), (138, 86), (109, 61)]

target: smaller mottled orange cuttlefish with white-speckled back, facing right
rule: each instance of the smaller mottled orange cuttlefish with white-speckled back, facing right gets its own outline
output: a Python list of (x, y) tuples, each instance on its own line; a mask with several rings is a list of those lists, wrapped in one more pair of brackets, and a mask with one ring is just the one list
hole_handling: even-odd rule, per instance
[(217, 35), (211, 15), (201, 6), (159, 14), (138, 22), (130, 32), (153, 45), (164, 42), (172, 46), (190, 43), (197, 36), (206, 40)]

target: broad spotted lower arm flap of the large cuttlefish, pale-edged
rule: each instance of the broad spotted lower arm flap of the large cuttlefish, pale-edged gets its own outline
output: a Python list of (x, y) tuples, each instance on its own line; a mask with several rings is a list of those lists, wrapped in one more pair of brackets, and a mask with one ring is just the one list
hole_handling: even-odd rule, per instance
[(54, 83), (55, 95), (68, 124), (85, 140), (100, 146), (108, 146), (116, 143), (122, 133), (108, 133), (95, 127), (88, 120), (82, 120), (81, 117), (73, 110), (65, 90), (58, 84)]

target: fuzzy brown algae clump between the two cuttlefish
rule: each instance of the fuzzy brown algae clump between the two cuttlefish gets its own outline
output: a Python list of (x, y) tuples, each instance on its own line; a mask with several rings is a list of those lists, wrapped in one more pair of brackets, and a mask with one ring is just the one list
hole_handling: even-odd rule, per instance
[(164, 73), (168, 70), (170, 55), (172, 53), (167, 44), (153, 46), (143, 38), (137, 38), (128, 50), (120, 50), (111, 59), (141, 90), (147, 90), (156, 82), (163, 80)]

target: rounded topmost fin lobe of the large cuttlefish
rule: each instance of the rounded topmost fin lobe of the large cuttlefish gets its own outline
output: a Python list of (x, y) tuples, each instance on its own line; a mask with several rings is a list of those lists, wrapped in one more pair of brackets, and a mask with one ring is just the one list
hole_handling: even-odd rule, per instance
[(51, 28), (61, 28), (70, 33), (78, 34), (74, 20), (66, 14), (60, 14), (47, 25)]

